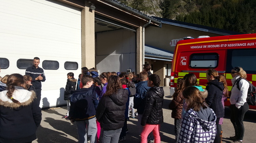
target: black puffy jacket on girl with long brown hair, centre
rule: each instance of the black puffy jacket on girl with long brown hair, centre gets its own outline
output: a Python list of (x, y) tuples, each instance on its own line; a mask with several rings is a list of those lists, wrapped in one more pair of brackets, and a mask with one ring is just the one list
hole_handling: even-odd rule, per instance
[(108, 131), (123, 127), (128, 96), (126, 89), (118, 89), (116, 94), (102, 96), (96, 110), (96, 118), (101, 128)]

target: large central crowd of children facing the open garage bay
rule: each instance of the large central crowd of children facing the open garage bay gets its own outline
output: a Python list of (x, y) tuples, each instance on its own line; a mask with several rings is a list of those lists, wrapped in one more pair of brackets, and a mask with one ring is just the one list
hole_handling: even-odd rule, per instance
[[(94, 69), (95, 71), (95, 69)], [(163, 122), (163, 96), (160, 78), (148, 77), (142, 71), (137, 78), (133, 73), (103, 72), (92, 77), (90, 70), (82, 68), (75, 90), (76, 79), (68, 73), (65, 90), (68, 112), (65, 118), (76, 122), (78, 142), (119, 142), (126, 140), (127, 120), (138, 112), (141, 142), (153, 131), (155, 142), (161, 142), (160, 124)], [(94, 73), (94, 75), (97, 75)], [(100, 85), (103, 84), (101, 88)], [(70, 103), (70, 106), (69, 106)]]

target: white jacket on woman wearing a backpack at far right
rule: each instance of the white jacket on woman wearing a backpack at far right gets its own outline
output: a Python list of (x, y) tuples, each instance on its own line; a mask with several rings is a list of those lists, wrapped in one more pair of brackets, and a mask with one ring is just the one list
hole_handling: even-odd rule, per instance
[(237, 108), (240, 108), (246, 102), (247, 93), (249, 89), (249, 83), (244, 79), (241, 79), (239, 83), (237, 83), (239, 84), (240, 90), (237, 88), (237, 84), (234, 85), (236, 83), (236, 80), (239, 78), (240, 78), (240, 75), (237, 75), (231, 79), (233, 88), (231, 90), (231, 95), (230, 95), (230, 104), (236, 104)]

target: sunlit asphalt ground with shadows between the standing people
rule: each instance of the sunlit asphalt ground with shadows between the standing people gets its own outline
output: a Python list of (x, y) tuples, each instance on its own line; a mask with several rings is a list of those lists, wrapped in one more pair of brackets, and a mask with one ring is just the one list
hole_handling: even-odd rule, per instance
[[(168, 109), (168, 104), (172, 100), (169, 95), (169, 87), (164, 87), (164, 103), (163, 103), (163, 115), (164, 123), (161, 124), (160, 136), (161, 142), (174, 142), (174, 119), (170, 117), (172, 110)], [(57, 107), (42, 110), (41, 125), (37, 129), (37, 139), (33, 143), (45, 143), (45, 142), (78, 142), (77, 129), (75, 123), (71, 123), (69, 120), (63, 119), (66, 115), (67, 107)], [(229, 108), (225, 107), (224, 124), (222, 125), (223, 139), (222, 142), (229, 142), (229, 136), (234, 134), (233, 126), (229, 120)], [(244, 119), (245, 135), (244, 143), (256, 142), (256, 110), (249, 110), (246, 112)], [(126, 133), (126, 140), (122, 143), (137, 143), (139, 139), (139, 129), (137, 127), (138, 119), (130, 118), (127, 121), (127, 127), (129, 132)]]

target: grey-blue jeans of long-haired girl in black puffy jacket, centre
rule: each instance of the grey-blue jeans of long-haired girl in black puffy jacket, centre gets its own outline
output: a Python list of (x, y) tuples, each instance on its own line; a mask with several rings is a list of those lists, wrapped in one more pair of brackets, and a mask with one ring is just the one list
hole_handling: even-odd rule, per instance
[(122, 128), (116, 130), (100, 131), (100, 143), (118, 143)]

